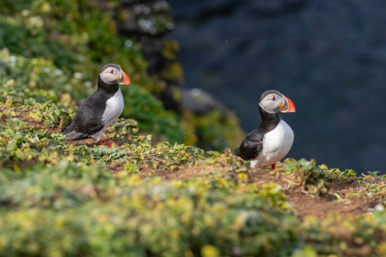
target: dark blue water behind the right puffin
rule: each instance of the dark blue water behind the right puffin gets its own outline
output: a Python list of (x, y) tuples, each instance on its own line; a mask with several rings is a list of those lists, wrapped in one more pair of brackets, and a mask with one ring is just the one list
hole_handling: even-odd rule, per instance
[(288, 156), (386, 173), (386, 1), (169, 1), (186, 88), (260, 122), (267, 89), (291, 98)]

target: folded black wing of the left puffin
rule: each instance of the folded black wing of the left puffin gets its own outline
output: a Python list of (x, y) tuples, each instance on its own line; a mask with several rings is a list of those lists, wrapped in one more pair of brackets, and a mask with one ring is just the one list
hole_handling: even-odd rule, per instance
[(106, 101), (101, 104), (101, 101), (95, 101), (94, 98), (96, 98), (95, 94), (80, 104), (75, 116), (62, 130), (67, 140), (84, 139), (103, 129), (102, 115), (106, 108)]

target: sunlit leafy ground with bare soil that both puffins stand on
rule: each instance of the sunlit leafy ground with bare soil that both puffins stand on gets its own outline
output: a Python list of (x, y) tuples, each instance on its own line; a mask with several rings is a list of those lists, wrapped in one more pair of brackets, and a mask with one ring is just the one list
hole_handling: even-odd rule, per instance
[(384, 176), (249, 169), (229, 149), (153, 144), (132, 119), (105, 134), (120, 147), (66, 142), (57, 104), (0, 105), (0, 255), (386, 254)]

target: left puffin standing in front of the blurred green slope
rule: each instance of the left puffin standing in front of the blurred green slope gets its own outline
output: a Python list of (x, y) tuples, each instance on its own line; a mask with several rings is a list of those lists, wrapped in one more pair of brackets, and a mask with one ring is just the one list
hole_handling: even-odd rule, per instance
[(102, 140), (102, 133), (121, 115), (124, 102), (121, 85), (129, 85), (129, 76), (118, 64), (106, 64), (98, 77), (96, 91), (82, 102), (72, 120), (63, 128), (66, 140), (91, 138), (112, 147), (111, 140)]

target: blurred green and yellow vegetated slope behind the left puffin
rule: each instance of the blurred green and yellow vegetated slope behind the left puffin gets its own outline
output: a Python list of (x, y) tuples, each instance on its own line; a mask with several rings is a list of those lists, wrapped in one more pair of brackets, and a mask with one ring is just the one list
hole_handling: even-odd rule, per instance
[[(118, 1), (108, 2), (119, 10)], [(41, 101), (40, 94), (47, 96), (44, 91), (51, 89), (51, 98), (80, 102), (95, 90), (100, 69), (106, 63), (118, 63), (132, 81), (132, 85), (122, 87), (123, 116), (136, 119), (141, 131), (156, 134), (159, 141), (200, 144), (217, 150), (225, 145), (236, 146), (243, 132), (234, 114), (226, 120), (213, 119), (212, 115), (190, 115), (186, 119), (186, 115), (179, 117), (166, 111), (152, 95), (165, 88), (164, 80), (183, 80), (179, 64), (171, 61), (178, 45), (165, 40), (162, 55), (170, 60), (170, 67), (164, 68), (160, 78), (150, 76), (142, 46), (135, 37), (118, 36), (116, 23), (91, 1), (4, 0), (0, 7), (2, 84), (15, 83), (17, 90), (26, 88), (31, 92), (29, 96), (38, 97), (37, 101)], [(174, 78), (177, 73), (178, 78)], [(176, 96), (178, 90), (175, 89)], [(193, 130), (187, 128), (187, 123), (196, 122), (200, 124), (194, 125)], [(208, 138), (206, 134), (212, 126), (216, 126), (216, 133)], [(230, 132), (238, 138), (230, 137)], [(196, 134), (203, 134), (201, 142)]]

